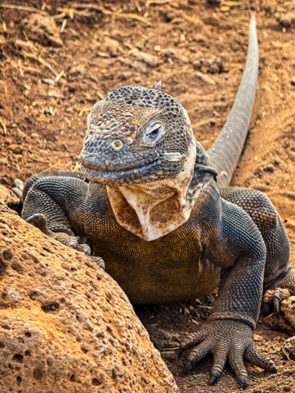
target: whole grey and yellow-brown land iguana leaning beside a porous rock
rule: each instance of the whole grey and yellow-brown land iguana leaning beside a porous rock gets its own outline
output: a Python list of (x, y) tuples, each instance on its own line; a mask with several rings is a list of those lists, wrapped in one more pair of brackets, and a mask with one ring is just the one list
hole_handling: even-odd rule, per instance
[(251, 16), (241, 85), (208, 153), (186, 110), (160, 83), (116, 88), (89, 113), (82, 173), (34, 175), (22, 211), (47, 235), (105, 262), (133, 303), (183, 302), (219, 285), (211, 316), (179, 352), (192, 348), (186, 372), (214, 354), (209, 384), (229, 359), (242, 388), (244, 359), (276, 372), (254, 347), (263, 292), (266, 312), (295, 293), (289, 240), (269, 198), (228, 187), (246, 139), (258, 68)]

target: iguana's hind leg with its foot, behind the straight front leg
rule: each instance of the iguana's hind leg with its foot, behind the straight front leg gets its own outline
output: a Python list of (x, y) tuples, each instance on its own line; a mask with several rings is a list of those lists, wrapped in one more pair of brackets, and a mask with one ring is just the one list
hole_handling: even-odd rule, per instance
[(274, 205), (261, 191), (223, 188), (222, 198), (239, 205), (259, 228), (266, 245), (264, 312), (279, 311), (281, 301), (295, 295), (295, 269), (290, 267), (289, 240)]

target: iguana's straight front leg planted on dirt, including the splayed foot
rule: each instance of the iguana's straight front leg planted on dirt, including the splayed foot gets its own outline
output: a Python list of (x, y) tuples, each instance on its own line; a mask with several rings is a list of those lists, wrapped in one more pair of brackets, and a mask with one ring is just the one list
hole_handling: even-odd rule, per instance
[(214, 230), (204, 245), (204, 256), (222, 269), (219, 296), (211, 317), (199, 332), (181, 342), (180, 353), (194, 347), (186, 360), (186, 372), (206, 354), (214, 354), (210, 384), (216, 382), (229, 359), (240, 387), (244, 388), (244, 359), (276, 372), (274, 362), (256, 352), (253, 338), (261, 304), (266, 247), (244, 210), (221, 200), (220, 213), (211, 223)]

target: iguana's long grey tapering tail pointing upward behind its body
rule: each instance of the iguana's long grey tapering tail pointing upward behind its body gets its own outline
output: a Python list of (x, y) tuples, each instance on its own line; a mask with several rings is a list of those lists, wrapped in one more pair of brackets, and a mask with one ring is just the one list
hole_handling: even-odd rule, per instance
[(251, 14), (249, 45), (243, 77), (236, 94), (234, 105), (224, 128), (213, 146), (208, 150), (211, 164), (219, 172), (219, 187), (227, 187), (231, 182), (248, 133), (254, 106), (259, 70), (259, 49), (256, 21)]

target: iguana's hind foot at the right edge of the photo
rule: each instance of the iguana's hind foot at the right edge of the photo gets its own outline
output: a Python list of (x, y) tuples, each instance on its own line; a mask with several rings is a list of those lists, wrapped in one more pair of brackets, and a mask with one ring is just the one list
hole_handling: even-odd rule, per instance
[(266, 290), (263, 297), (264, 314), (269, 315), (273, 310), (279, 312), (281, 302), (295, 295), (295, 269), (291, 267), (278, 282), (272, 285), (274, 288)]

